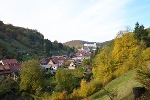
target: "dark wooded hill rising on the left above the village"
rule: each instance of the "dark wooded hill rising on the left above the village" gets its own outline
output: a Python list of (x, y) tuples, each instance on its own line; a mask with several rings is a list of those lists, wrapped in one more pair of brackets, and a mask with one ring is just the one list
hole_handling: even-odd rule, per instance
[(68, 46), (51, 42), (35, 29), (4, 24), (0, 21), (0, 59), (27, 60), (74, 52)]

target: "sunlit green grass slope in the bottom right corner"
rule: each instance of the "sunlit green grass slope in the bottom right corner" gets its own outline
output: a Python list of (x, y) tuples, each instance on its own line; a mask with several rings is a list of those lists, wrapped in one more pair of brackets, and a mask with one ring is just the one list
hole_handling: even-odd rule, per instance
[(96, 92), (88, 100), (134, 100), (132, 88), (142, 86), (135, 80), (136, 71), (131, 70), (108, 83), (104, 89)]

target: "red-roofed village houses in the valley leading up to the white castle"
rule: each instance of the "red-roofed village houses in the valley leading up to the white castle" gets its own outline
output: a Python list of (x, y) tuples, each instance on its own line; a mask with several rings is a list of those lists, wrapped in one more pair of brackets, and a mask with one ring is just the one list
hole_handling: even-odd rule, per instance
[[(51, 74), (55, 74), (58, 68), (74, 70), (76, 66), (81, 66), (84, 59), (90, 59), (91, 53), (94, 52), (96, 48), (96, 42), (87, 42), (81, 49), (78, 49), (72, 57), (67, 55), (53, 55), (51, 57), (40, 59), (39, 63), (42, 69), (50, 71)], [(21, 68), (21, 62), (18, 62), (16, 59), (0, 60), (0, 77), (9, 75), (13, 79), (17, 79)]]

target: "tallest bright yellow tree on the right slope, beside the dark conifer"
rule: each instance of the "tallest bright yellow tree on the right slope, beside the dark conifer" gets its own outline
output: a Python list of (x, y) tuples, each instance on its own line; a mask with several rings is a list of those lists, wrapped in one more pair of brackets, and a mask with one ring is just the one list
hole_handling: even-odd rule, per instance
[(134, 38), (134, 33), (125, 33), (115, 38), (112, 56), (116, 76), (142, 65), (141, 48)]

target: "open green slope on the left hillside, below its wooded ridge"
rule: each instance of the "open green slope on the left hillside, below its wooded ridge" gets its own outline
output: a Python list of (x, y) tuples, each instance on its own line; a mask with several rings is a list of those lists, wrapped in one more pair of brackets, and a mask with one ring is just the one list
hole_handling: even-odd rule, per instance
[[(4, 35), (3, 39), (1, 36)], [(4, 33), (0, 32), (0, 59), (12, 59), (16, 58), (18, 61), (25, 61), (35, 57), (36, 53), (39, 56), (44, 56), (42, 51), (36, 51), (33, 48), (26, 46), (25, 44), (10, 38)]]

